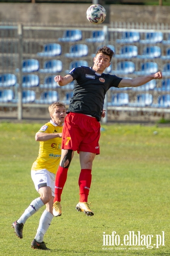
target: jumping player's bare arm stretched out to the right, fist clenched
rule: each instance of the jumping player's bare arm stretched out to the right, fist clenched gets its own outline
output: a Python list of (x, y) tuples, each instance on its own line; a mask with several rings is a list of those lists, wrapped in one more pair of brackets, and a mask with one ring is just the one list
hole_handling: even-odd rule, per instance
[(136, 77), (134, 79), (122, 79), (118, 85), (118, 88), (141, 86), (153, 79), (162, 79), (162, 73), (159, 71), (155, 74), (148, 76)]

